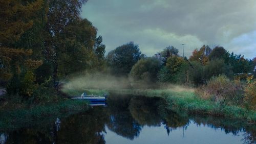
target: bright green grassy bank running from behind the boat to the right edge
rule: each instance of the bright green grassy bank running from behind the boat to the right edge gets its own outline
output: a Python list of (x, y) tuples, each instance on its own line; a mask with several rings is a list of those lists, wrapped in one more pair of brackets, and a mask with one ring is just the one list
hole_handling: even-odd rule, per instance
[[(71, 94), (75, 90), (65, 90)], [(117, 94), (133, 94), (144, 95), (146, 97), (161, 97), (168, 103), (168, 109), (177, 113), (199, 114), (222, 116), (227, 118), (240, 119), (246, 123), (256, 123), (256, 112), (246, 108), (234, 105), (220, 105), (210, 100), (204, 100), (195, 94), (191, 89), (172, 90), (172, 89), (83, 89), (88, 93), (117, 93)], [(81, 91), (77, 91), (81, 92)]]

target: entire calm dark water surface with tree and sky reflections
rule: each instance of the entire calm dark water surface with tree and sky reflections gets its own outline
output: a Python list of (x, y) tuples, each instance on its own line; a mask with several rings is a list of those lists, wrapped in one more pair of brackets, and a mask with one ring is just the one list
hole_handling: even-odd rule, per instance
[(0, 132), (0, 143), (256, 143), (254, 125), (166, 106), (160, 98), (112, 94), (106, 107)]

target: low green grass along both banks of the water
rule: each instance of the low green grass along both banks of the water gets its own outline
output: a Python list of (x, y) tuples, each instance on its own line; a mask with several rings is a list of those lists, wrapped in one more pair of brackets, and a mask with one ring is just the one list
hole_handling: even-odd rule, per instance
[[(180, 115), (196, 114), (199, 116), (215, 116), (238, 119), (246, 124), (256, 123), (256, 112), (234, 105), (220, 105), (210, 100), (200, 98), (192, 88), (169, 88), (169, 89), (63, 89), (67, 95), (88, 94), (103, 95), (111, 93), (128, 94), (144, 97), (159, 97), (167, 102), (167, 110)], [(110, 95), (111, 97), (111, 95)], [(13, 110), (0, 110), (0, 130), (10, 131), (23, 126), (30, 126), (31, 122), (38, 123), (54, 121), (56, 117), (87, 111), (87, 101), (60, 100), (57, 103), (35, 105), (31, 108), (19, 108)]]

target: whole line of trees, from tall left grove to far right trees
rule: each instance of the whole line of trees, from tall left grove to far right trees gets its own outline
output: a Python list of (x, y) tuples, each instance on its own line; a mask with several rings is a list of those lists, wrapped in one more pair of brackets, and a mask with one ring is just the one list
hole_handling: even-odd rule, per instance
[(129, 42), (104, 56), (102, 37), (80, 16), (86, 2), (0, 0), (0, 86), (8, 95), (50, 101), (59, 81), (95, 71), (127, 77), (135, 88), (158, 83), (199, 87), (219, 75), (241, 81), (251, 80), (253, 74), (255, 78), (256, 58), (230, 54), (221, 46), (203, 45), (187, 59), (174, 46), (147, 57)]

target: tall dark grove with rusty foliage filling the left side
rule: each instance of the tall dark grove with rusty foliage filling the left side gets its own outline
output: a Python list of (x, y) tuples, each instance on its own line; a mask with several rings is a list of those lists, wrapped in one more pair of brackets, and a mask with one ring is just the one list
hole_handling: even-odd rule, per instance
[(0, 88), (40, 101), (60, 79), (102, 69), (102, 37), (80, 16), (86, 2), (0, 0)]

